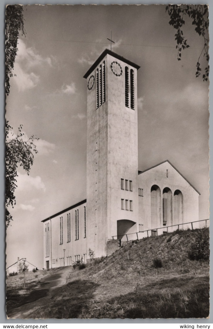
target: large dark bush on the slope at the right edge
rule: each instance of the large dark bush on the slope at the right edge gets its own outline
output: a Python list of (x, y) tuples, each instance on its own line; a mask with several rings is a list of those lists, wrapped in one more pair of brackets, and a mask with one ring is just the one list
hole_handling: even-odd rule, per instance
[(209, 259), (209, 234), (208, 230), (203, 229), (198, 232), (195, 241), (191, 244), (188, 257), (191, 260)]

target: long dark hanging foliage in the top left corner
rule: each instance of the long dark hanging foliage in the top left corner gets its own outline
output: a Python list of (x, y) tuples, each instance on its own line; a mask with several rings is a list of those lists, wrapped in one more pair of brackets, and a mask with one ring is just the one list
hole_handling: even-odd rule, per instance
[(23, 6), (8, 5), (6, 8), (6, 31), (5, 31), (5, 86), (6, 94), (10, 92), (10, 78), (13, 76), (15, 56), (17, 54), (17, 43), (21, 35), (25, 35)]

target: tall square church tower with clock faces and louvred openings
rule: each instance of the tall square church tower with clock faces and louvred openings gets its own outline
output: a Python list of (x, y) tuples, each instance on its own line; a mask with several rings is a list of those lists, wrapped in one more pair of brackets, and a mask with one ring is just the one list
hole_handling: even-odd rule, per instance
[[(87, 79), (87, 255), (137, 232), (139, 66), (105, 49)], [(87, 256), (88, 257), (88, 256)]]

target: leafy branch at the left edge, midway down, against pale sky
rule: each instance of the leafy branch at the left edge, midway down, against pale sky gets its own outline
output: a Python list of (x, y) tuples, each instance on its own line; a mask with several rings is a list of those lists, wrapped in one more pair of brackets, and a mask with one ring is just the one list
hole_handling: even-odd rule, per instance
[[(34, 154), (38, 153), (33, 141), (38, 138), (31, 136), (28, 140), (24, 140), (24, 133), (22, 132), (22, 125), (18, 127), (17, 135), (13, 138), (13, 128), (6, 122), (6, 144), (5, 144), (5, 157), (6, 157), (6, 223), (7, 227), (13, 219), (8, 211), (8, 206), (15, 205), (15, 189), (18, 164), (29, 175), (30, 167), (33, 164)], [(12, 138), (10, 138), (10, 135)]]

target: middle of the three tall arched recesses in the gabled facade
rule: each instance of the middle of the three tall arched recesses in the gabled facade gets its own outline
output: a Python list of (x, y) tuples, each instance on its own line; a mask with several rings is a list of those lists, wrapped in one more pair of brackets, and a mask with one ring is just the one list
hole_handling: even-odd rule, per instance
[(163, 225), (172, 225), (172, 193), (168, 187), (163, 189)]

